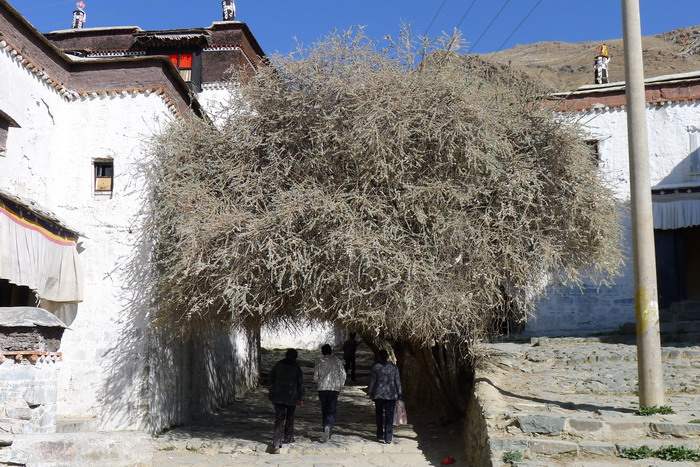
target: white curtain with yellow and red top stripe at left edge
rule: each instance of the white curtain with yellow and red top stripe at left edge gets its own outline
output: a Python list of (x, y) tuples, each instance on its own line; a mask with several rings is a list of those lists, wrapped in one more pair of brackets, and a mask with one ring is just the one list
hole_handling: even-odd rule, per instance
[(43, 300), (83, 300), (75, 241), (52, 234), (0, 204), (0, 278), (27, 286)]

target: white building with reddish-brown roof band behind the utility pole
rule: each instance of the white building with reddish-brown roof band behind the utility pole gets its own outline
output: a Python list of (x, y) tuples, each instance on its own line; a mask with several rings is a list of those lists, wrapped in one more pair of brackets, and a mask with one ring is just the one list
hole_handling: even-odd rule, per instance
[[(564, 118), (582, 125), (601, 172), (624, 206), (631, 248), (629, 157), (624, 83), (583, 86), (554, 96)], [(661, 320), (700, 320), (700, 72), (646, 80), (657, 276)], [(631, 251), (611, 287), (554, 288), (523, 336), (584, 335), (634, 323)], [(671, 314), (676, 314), (670, 317)], [(699, 332), (689, 323), (689, 332)], [(695, 326), (695, 327), (693, 327)], [(634, 329), (632, 327), (632, 329)], [(664, 323), (662, 323), (662, 331)]]

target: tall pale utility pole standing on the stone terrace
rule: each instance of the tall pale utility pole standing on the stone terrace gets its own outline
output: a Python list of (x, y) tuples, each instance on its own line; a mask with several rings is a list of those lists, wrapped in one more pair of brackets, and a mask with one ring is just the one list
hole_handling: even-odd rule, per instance
[(664, 405), (639, 0), (622, 0), (639, 405)]

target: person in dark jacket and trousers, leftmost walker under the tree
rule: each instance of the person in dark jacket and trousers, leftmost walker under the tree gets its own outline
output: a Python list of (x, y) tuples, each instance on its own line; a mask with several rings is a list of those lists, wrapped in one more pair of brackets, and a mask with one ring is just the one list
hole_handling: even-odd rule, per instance
[(275, 454), (279, 454), (282, 443), (294, 442), (294, 411), (297, 404), (304, 407), (304, 375), (297, 355), (296, 350), (288, 349), (284, 359), (270, 371), (270, 401), (275, 405)]

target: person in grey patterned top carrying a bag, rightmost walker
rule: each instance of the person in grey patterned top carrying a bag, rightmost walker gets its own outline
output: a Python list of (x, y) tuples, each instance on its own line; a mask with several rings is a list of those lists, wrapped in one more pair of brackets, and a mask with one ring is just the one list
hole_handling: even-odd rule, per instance
[(389, 352), (379, 351), (379, 363), (372, 367), (368, 395), (374, 401), (377, 439), (391, 444), (394, 438), (394, 409), (396, 401), (403, 400), (399, 368), (389, 361)]

